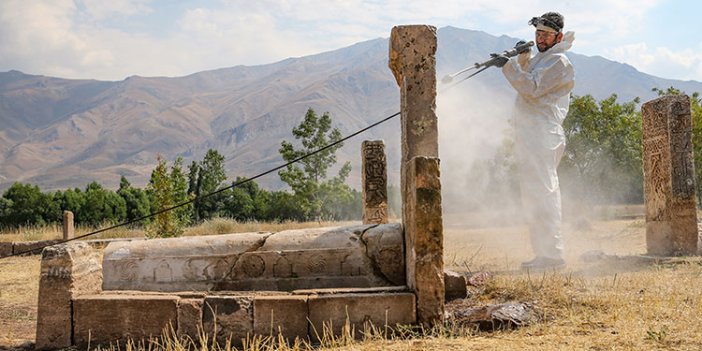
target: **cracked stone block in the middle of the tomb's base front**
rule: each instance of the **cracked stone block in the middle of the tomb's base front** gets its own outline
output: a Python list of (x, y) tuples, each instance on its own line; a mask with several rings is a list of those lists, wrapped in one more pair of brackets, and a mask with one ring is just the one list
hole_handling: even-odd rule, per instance
[(215, 335), (219, 345), (231, 340), (241, 345), (253, 333), (253, 298), (247, 296), (208, 296), (203, 306), (202, 324), (207, 335)]

